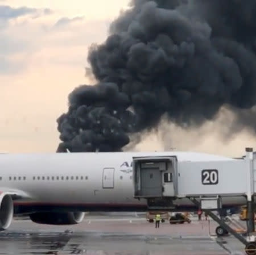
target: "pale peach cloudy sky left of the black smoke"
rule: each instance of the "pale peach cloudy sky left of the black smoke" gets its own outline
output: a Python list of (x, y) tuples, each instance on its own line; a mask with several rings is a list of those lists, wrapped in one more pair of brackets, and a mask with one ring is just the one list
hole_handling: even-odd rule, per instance
[(55, 152), (56, 119), (128, 0), (0, 0), (0, 152)]

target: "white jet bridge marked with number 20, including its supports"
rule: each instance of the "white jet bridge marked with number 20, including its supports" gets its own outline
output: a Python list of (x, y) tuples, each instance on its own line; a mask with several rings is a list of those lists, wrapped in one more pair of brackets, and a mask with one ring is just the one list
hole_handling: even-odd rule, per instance
[[(175, 153), (174, 153), (175, 154)], [(256, 255), (254, 227), (253, 149), (246, 157), (215, 161), (178, 161), (170, 157), (133, 158), (134, 198), (146, 199), (148, 210), (171, 210), (173, 201), (188, 198), (220, 224), (218, 236), (230, 233), (246, 245), (246, 253)], [(245, 197), (249, 213), (247, 237), (230, 228), (222, 217), (222, 198)], [(221, 215), (221, 214), (220, 214)]]

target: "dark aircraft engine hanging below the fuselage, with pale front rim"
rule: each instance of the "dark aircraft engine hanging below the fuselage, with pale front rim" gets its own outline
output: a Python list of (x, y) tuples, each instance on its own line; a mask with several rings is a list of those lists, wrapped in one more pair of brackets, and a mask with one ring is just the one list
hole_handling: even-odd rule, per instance
[(39, 224), (73, 225), (81, 223), (84, 215), (84, 212), (35, 212), (30, 219)]

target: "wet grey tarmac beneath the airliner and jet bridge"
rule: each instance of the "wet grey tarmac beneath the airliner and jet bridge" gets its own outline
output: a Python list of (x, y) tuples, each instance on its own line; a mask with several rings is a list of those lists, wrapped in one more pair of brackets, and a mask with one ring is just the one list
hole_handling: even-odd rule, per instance
[(217, 223), (192, 218), (190, 224), (161, 223), (143, 215), (86, 215), (77, 225), (43, 225), (14, 220), (0, 232), (0, 254), (242, 255), (234, 237), (217, 238)]

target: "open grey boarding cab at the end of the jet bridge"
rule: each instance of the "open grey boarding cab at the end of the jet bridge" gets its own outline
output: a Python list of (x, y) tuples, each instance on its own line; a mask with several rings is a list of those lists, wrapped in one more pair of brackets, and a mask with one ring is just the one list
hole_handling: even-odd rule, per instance
[(134, 198), (150, 209), (173, 208), (177, 185), (176, 157), (133, 157)]

